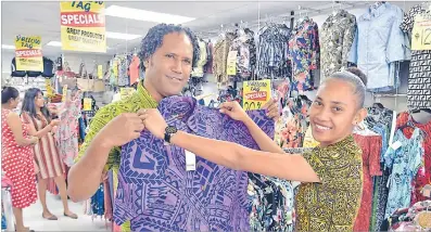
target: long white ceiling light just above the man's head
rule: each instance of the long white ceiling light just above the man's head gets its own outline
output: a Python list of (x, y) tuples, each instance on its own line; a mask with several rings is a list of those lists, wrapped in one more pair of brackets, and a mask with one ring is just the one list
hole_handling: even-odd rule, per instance
[(165, 14), (153, 11), (124, 8), (119, 5), (111, 5), (106, 8), (105, 15), (165, 24), (183, 24), (195, 20), (194, 17), (186, 17), (175, 14)]

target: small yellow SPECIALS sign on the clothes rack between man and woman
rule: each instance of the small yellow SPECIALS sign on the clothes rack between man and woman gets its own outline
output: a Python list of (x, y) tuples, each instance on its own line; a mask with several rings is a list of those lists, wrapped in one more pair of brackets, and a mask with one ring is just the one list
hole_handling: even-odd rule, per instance
[(244, 81), (242, 107), (245, 111), (262, 108), (271, 98), (270, 80)]

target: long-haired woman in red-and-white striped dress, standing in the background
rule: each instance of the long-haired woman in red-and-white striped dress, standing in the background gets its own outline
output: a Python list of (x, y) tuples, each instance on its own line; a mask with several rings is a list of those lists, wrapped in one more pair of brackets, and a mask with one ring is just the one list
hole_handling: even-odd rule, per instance
[(42, 217), (48, 220), (58, 220), (47, 206), (48, 180), (53, 178), (63, 202), (64, 216), (77, 219), (78, 216), (68, 209), (64, 177), (65, 167), (53, 138), (52, 130), (60, 124), (60, 120), (51, 120), (51, 115), (45, 105), (43, 94), (40, 89), (30, 88), (26, 91), (22, 106), (22, 117), (23, 121), (28, 124), (30, 134), (40, 139), (34, 147), (34, 153), (39, 168), (38, 190), (40, 203), (43, 207)]

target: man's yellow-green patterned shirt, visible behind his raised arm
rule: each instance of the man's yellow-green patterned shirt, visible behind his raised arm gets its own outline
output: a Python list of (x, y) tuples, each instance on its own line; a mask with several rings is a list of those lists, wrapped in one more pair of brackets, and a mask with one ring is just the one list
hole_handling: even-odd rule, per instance
[[(77, 163), (84, 156), (88, 145), (96, 134), (116, 116), (123, 113), (137, 113), (141, 108), (155, 107), (157, 107), (157, 102), (150, 95), (145, 88), (143, 88), (142, 82), (138, 85), (137, 91), (130, 96), (101, 107), (90, 123), (89, 131), (86, 134), (78, 156), (75, 158), (75, 163)], [(112, 169), (113, 167), (119, 167), (121, 152), (121, 147), (115, 147), (111, 151), (110, 156), (107, 157), (105, 170)]]

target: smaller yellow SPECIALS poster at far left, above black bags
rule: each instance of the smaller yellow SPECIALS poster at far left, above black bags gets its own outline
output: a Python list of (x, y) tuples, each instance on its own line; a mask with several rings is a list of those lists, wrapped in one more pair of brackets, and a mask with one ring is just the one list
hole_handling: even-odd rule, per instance
[(43, 56), (40, 36), (15, 37), (16, 70), (43, 72)]

